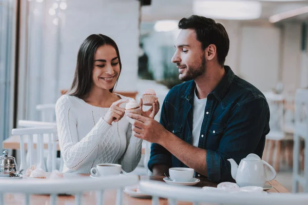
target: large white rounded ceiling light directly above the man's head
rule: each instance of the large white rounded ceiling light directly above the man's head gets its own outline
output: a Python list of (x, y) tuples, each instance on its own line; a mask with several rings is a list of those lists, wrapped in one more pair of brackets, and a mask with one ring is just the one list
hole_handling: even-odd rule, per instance
[(256, 19), (261, 15), (261, 3), (257, 1), (200, 1), (195, 0), (192, 11), (197, 15), (216, 19)]

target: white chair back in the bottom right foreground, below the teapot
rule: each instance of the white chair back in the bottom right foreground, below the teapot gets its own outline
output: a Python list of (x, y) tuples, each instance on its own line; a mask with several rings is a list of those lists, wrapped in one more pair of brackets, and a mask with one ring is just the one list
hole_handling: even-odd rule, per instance
[(159, 181), (140, 181), (139, 189), (144, 194), (152, 195), (152, 205), (159, 204), (159, 197), (167, 198), (168, 204), (176, 205), (177, 201), (190, 201), (194, 205), (203, 204), (271, 204), (271, 205), (306, 205), (308, 194), (251, 194), (226, 193), (218, 190), (204, 190), (197, 187), (181, 187), (167, 185)]

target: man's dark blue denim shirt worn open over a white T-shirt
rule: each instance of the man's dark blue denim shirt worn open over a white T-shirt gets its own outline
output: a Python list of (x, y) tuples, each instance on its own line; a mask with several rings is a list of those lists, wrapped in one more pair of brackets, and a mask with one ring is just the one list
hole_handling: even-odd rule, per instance
[[(238, 164), (250, 153), (262, 158), (265, 136), (269, 132), (269, 108), (264, 95), (241, 79), (228, 66), (218, 86), (207, 95), (207, 103), (198, 147), (206, 150), (207, 178), (211, 181), (233, 181), (227, 159)], [(194, 119), (193, 80), (172, 88), (165, 97), (160, 123), (166, 130), (192, 145)], [(170, 142), (172, 143), (172, 142)], [(185, 152), (185, 150), (183, 150)], [(148, 168), (164, 164), (187, 167), (164, 147), (153, 143)], [(196, 176), (202, 176), (196, 173)]]

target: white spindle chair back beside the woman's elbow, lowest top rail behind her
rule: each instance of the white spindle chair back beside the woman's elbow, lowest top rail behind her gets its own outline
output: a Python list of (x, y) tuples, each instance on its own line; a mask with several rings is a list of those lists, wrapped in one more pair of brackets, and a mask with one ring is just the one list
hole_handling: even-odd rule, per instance
[[(12, 130), (12, 135), (20, 136), (20, 147), (21, 147), (21, 169), (27, 169), (29, 166), (34, 165), (34, 146), (33, 138), (37, 137), (37, 168), (47, 170), (44, 162), (44, 140), (43, 137), (47, 136), (52, 141), (51, 148), (49, 150), (49, 155), (51, 160), (47, 160), (47, 167), (50, 170), (56, 169), (56, 128), (55, 127), (35, 127), (35, 128), (18, 128)], [(27, 136), (27, 141), (25, 143), (25, 138)], [(27, 150), (29, 154), (29, 165), (26, 161), (25, 144), (27, 144)]]

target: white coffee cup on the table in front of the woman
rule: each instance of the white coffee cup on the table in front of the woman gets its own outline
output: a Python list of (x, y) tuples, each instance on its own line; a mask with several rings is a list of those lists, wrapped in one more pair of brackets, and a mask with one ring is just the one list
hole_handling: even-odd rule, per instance
[(93, 167), (90, 171), (91, 176), (103, 177), (110, 175), (118, 175), (121, 173), (122, 166), (117, 163), (99, 163), (97, 167)]

